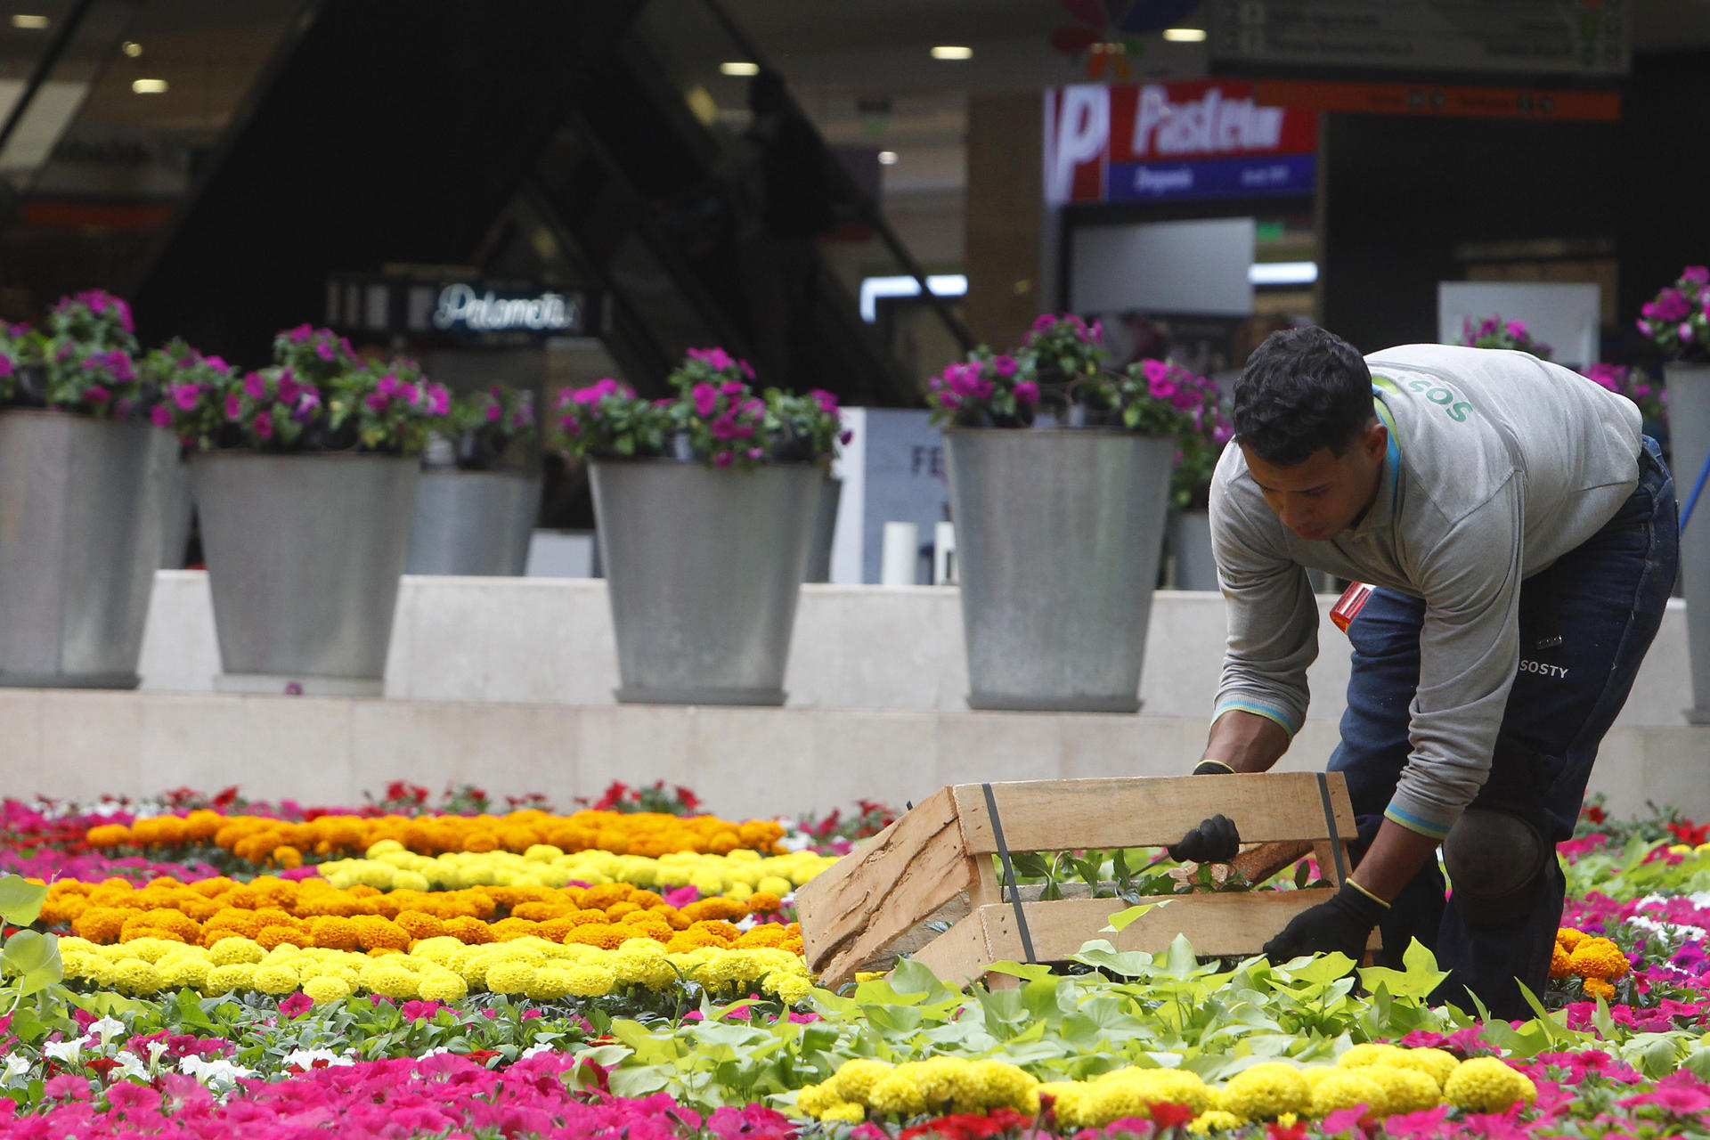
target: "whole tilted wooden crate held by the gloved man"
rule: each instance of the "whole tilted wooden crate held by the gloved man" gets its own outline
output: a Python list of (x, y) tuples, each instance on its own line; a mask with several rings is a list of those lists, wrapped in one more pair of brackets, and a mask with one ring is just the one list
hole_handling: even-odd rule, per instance
[[(995, 812), (992, 810), (995, 807)], [(855, 969), (966, 892), (968, 914), (913, 959), (952, 983), (992, 962), (1028, 961), (1016, 904), (1004, 901), (992, 855), (1168, 846), (1223, 812), (1241, 832), (1236, 868), (1259, 882), (1315, 853), (1320, 875), (1349, 868), (1354, 812), (1341, 773), (1265, 773), (1125, 779), (1040, 779), (940, 788), (795, 896), (807, 966), (836, 988)], [(1180, 933), (1207, 955), (1248, 955), (1336, 887), (1163, 896), (1122, 933), (1101, 933), (1122, 899), (1023, 902), (1033, 961), (1060, 962), (1093, 938), (1159, 952)], [(1373, 935), (1375, 937), (1375, 935)], [(1375, 943), (1373, 943), (1375, 945)]]

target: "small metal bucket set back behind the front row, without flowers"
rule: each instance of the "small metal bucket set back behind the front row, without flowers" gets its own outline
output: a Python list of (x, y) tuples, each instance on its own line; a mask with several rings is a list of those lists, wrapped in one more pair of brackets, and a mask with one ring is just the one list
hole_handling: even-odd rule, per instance
[(422, 472), (405, 574), (518, 576), (540, 514), (540, 477), (525, 472)]

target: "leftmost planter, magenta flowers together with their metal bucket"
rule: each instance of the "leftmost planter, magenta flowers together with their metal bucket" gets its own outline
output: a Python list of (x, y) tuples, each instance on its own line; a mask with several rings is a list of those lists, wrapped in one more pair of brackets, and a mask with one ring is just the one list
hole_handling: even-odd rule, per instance
[(137, 685), (176, 465), (130, 306), (0, 323), (0, 684)]

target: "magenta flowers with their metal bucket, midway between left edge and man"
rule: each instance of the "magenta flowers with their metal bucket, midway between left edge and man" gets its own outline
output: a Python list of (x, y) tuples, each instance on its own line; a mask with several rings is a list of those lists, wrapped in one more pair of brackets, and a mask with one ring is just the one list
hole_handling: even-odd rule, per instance
[(829, 393), (756, 391), (752, 379), (723, 349), (693, 349), (674, 397), (602, 379), (559, 398), (554, 441), (588, 460), (593, 485), (619, 701), (783, 704), (840, 426)]

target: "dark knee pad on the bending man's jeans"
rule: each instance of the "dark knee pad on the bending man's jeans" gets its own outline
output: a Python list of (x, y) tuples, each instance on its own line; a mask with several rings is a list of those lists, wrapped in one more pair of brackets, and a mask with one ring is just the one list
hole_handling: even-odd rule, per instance
[(1443, 839), (1454, 904), (1472, 930), (1513, 926), (1532, 913), (1554, 848), (1537, 824), (1486, 807), (1469, 807)]

